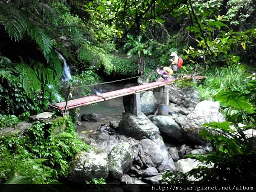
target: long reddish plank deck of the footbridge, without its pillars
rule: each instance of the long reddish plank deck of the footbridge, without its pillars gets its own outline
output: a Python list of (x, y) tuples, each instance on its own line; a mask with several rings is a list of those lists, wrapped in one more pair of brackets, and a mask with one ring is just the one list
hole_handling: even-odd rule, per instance
[[(190, 79), (191, 76), (184, 76), (183, 78)], [(195, 79), (204, 79), (204, 76), (195, 76)], [(173, 81), (174, 81), (173, 79), (169, 79), (169, 82), (156, 81), (156, 82), (152, 82), (152, 83), (148, 83), (148, 84), (138, 85), (138, 86), (134, 86), (134, 87), (128, 87), (128, 88), (119, 89), (119, 90), (115, 90), (115, 91), (110, 91), (107, 93), (101, 93), (98, 95), (92, 95), (92, 96), (82, 97), (79, 99), (69, 100), (67, 102), (67, 110), (73, 109), (73, 108), (78, 108), (78, 107), (85, 106), (85, 105), (90, 105), (93, 103), (103, 102), (103, 101), (106, 101), (109, 99), (114, 99), (117, 97), (122, 97), (122, 96), (126, 96), (126, 95), (131, 95), (134, 93), (139, 93), (139, 92), (149, 90), (149, 89), (154, 89), (157, 87), (163, 87), (167, 84), (173, 83)], [(58, 110), (64, 111), (65, 105), (66, 105), (66, 102), (61, 102), (61, 103), (54, 103), (54, 104), (50, 105), (50, 107), (57, 108)]]

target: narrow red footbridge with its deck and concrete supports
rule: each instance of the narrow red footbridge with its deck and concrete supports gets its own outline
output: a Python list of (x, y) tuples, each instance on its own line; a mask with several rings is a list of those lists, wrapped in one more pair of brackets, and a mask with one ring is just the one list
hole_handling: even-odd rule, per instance
[[(192, 76), (183, 76), (182, 79), (191, 79), (191, 78), (204, 79), (204, 76), (193, 76), (193, 77)], [(152, 83), (148, 83), (148, 84), (138, 85), (138, 86), (134, 86), (134, 87), (127, 87), (127, 88), (123, 88), (123, 89), (119, 89), (119, 90), (110, 91), (107, 93), (86, 96), (86, 97), (82, 97), (79, 99), (73, 99), (73, 100), (68, 100), (68, 97), (67, 97), (67, 101), (51, 104), (50, 108), (55, 108), (59, 111), (66, 111), (66, 110), (70, 110), (73, 108), (79, 108), (79, 107), (82, 107), (85, 105), (90, 105), (93, 103), (104, 102), (109, 99), (134, 95), (134, 97), (130, 96), (130, 97), (126, 97), (126, 99), (124, 97), (123, 100), (124, 100), (124, 102), (126, 100), (126, 101), (128, 101), (128, 103), (129, 102), (131, 103), (131, 109), (129, 110), (127, 107), (125, 107), (125, 111), (137, 114), (137, 113), (140, 113), (140, 106), (139, 106), (139, 104), (140, 104), (140, 98), (139, 98), (140, 94), (139, 93), (140, 92), (145, 91), (145, 90), (156, 89), (158, 87), (164, 87), (168, 84), (172, 84), (174, 81), (175, 81), (174, 79), (169, 79), (168, 82), (156, 81), (156, 82), (152, 82)], [(161, 90), (159, 90), (159, 92), (167, 93), (168, 91), (166, 91), (166, 89), (161, 89)], [(166, 99), (162, 99), (162, 100), (166, 100)], [(168, 99), (169, 99), (169, 97), (168, 97)], [(161, 98), (160, 98), (160, 100), (161, 100)], [(166, 102), (168, 102), (168, 103), (166, 103)], [(162, 103), (163, 105), (169, 104), (169, 101), (162, 101), (162, 102), (160, 101), (160, 103)]]

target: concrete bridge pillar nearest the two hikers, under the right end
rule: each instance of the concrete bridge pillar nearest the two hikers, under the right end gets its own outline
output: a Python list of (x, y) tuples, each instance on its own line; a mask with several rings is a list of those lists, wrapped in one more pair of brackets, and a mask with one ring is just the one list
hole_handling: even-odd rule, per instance
[(154, 89), (154, 96), (157, 99), (157, 114), (169, 115), (169, 87), (158, 87)]

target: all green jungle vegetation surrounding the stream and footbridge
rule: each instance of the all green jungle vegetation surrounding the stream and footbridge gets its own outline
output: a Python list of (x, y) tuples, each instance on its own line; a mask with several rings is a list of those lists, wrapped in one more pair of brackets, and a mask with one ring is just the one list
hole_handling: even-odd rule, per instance
[[(172, 51), (183, 58), (180, 74), (206, 76), (202, 84), (185, 86), (195, 86), (202, 100), (218, 100), (227, 119), (205, 125), (201, 133), (214, 150), (196, 158), (215, 166), (190, 176), (216, 183), (255, 180), (255, 137), (243, 135), (256, 126), (253, 0), (0, 0), (0, 127), (15, 127), (50, 103), (64, 101), (67, 85), (147, 76), (156, 66), (169, 65)], [(73, 75), (64, 84), (58, 53)], [(90, 94), (88, 87), (83, 92)], [(38, 139), (35, 146), (44, 125), (33, 125), (29, 138), (2, 137), (0, 183), (14, 175), (31, 183), (50, 183), (64, 175), (70, 157), (87, 148), (76, 138), (72, 122), (65, 121), (70, 129), (64, 135)], [(209, 127), (225, 135), (211, 134)], [(45, 143), (43, 150), (40, 143)], [(166, 182), (192, 182), (188, 176), (168, 173)]]

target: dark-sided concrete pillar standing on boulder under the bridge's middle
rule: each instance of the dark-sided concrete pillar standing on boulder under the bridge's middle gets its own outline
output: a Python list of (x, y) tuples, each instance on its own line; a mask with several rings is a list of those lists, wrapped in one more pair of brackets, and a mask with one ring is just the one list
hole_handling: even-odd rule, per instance
[(133, 95), (123, 96), (123, 104), (125, 113), (131, 113), (136, 116), (141, 114), (140, 109), (140, 93), (134, 93)]

